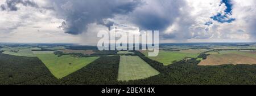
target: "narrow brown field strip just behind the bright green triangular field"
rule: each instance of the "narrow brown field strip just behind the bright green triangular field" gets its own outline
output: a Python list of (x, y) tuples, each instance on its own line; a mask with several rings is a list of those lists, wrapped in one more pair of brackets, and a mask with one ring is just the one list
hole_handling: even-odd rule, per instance
[(59, 50), (62, 51), (63, 53), (82, 53), (85, 55), (90, 55), (93, 53), (96, 53), (96, 51), (93, 50), (72, 50), (72, 49), (64, 49), (64, 50)]

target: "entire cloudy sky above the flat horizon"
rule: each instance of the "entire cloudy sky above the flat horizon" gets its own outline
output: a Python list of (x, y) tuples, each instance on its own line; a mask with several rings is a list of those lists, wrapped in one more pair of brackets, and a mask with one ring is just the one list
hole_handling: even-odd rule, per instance
[(100, 30), (160, 43), (255, 42), (255, 0), (0, 0), (0, 42), (95, 45)]

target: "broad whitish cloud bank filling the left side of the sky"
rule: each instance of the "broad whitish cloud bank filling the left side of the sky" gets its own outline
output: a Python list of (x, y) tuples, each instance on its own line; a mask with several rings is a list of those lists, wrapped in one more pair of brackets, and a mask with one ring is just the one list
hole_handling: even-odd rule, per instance
[[(47, 2), (35, 1), (40, 7)], [(5, 2), (0, 2), (5, 3)], [(0, 11), (1, 42), (79, 42), (77, 36), (57, 28), (63, 21), (46, 8), (16, 5), (16, 11)]]

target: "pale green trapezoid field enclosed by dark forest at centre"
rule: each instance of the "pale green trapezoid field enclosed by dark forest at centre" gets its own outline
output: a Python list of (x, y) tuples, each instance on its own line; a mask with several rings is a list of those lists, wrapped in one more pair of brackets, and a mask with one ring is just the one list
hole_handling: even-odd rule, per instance
[(120, 56), (117, 80), (138, 80), (158, 74), (156, 69), (144, 62), (139, 56)]

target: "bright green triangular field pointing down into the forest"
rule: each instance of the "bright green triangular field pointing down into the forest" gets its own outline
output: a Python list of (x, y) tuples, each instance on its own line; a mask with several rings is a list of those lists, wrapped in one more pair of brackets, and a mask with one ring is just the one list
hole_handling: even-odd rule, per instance
[(75, 58), (71, 55), (57, 57), (55, 54), (36, 54), (36, 56), (46, 64), (49, 71), (51, 71), (51, 73), (57, 78), (65, 77), (70, 73), (85, 67), (87, 64), (98, 58)]

